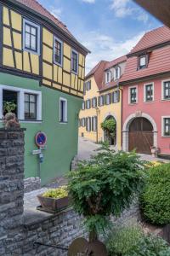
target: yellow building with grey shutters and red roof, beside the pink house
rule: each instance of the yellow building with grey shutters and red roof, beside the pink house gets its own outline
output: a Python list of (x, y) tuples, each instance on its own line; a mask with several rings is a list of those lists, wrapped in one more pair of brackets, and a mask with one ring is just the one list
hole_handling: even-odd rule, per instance
[(84, 84), (84, 101), (79, 114), (79, 136), (96, 143), (105, 141), (101, 123), (105, 119), (115, 119), (116, 138), (110, 141), (117, 149), (122, 149), (122, 89), (119, 79), (126, 66), (127, 57), (114, 61), (99, 61), (88, 73)]

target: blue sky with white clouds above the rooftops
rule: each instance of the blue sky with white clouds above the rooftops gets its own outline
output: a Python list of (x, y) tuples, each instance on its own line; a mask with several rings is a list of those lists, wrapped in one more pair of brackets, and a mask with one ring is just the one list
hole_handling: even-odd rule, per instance
[(133, 0), (38, 0), (65, 23), (91, 54), (86, 73), (99, 61), (126, 55), (144, 32), (162, 26)]

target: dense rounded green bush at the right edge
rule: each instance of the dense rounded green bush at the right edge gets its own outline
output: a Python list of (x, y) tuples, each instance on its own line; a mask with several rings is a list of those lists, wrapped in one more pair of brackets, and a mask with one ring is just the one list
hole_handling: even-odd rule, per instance
[(153, 224), (170, 223), (170, 164), (152, 167), (140, 196), (140, 205), (148, 221)]

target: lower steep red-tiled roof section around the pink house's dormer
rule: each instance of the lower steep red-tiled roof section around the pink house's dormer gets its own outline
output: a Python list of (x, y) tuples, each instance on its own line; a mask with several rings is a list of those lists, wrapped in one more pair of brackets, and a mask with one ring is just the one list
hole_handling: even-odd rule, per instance
[(150, 53), (148, 67), (139, 70), (137, 70), (137, 67), (138, 56), (129, 57), (120, 83), (170, 72), (170, 45), (154, 49)]

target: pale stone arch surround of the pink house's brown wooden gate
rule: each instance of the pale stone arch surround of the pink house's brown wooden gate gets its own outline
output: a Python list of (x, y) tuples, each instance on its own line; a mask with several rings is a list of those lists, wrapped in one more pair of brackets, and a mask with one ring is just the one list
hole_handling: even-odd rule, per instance
[[(148, 119), (150, 123), (153, 126), (153, 133), (154, 133), (154, 146), (157, 148), (157, 126), (155, 120), (148, 114), (148, 113), (140, 113), (140, 117), (143, 117), (145, 119)], [(129, 126), (132, 123), (133, 119), (138, 118), (136, 113), (130, 114), (126, 121), (123, 124), (122, 128), (122, 150), (128, 151), (128, 132), (129, 132)]]

